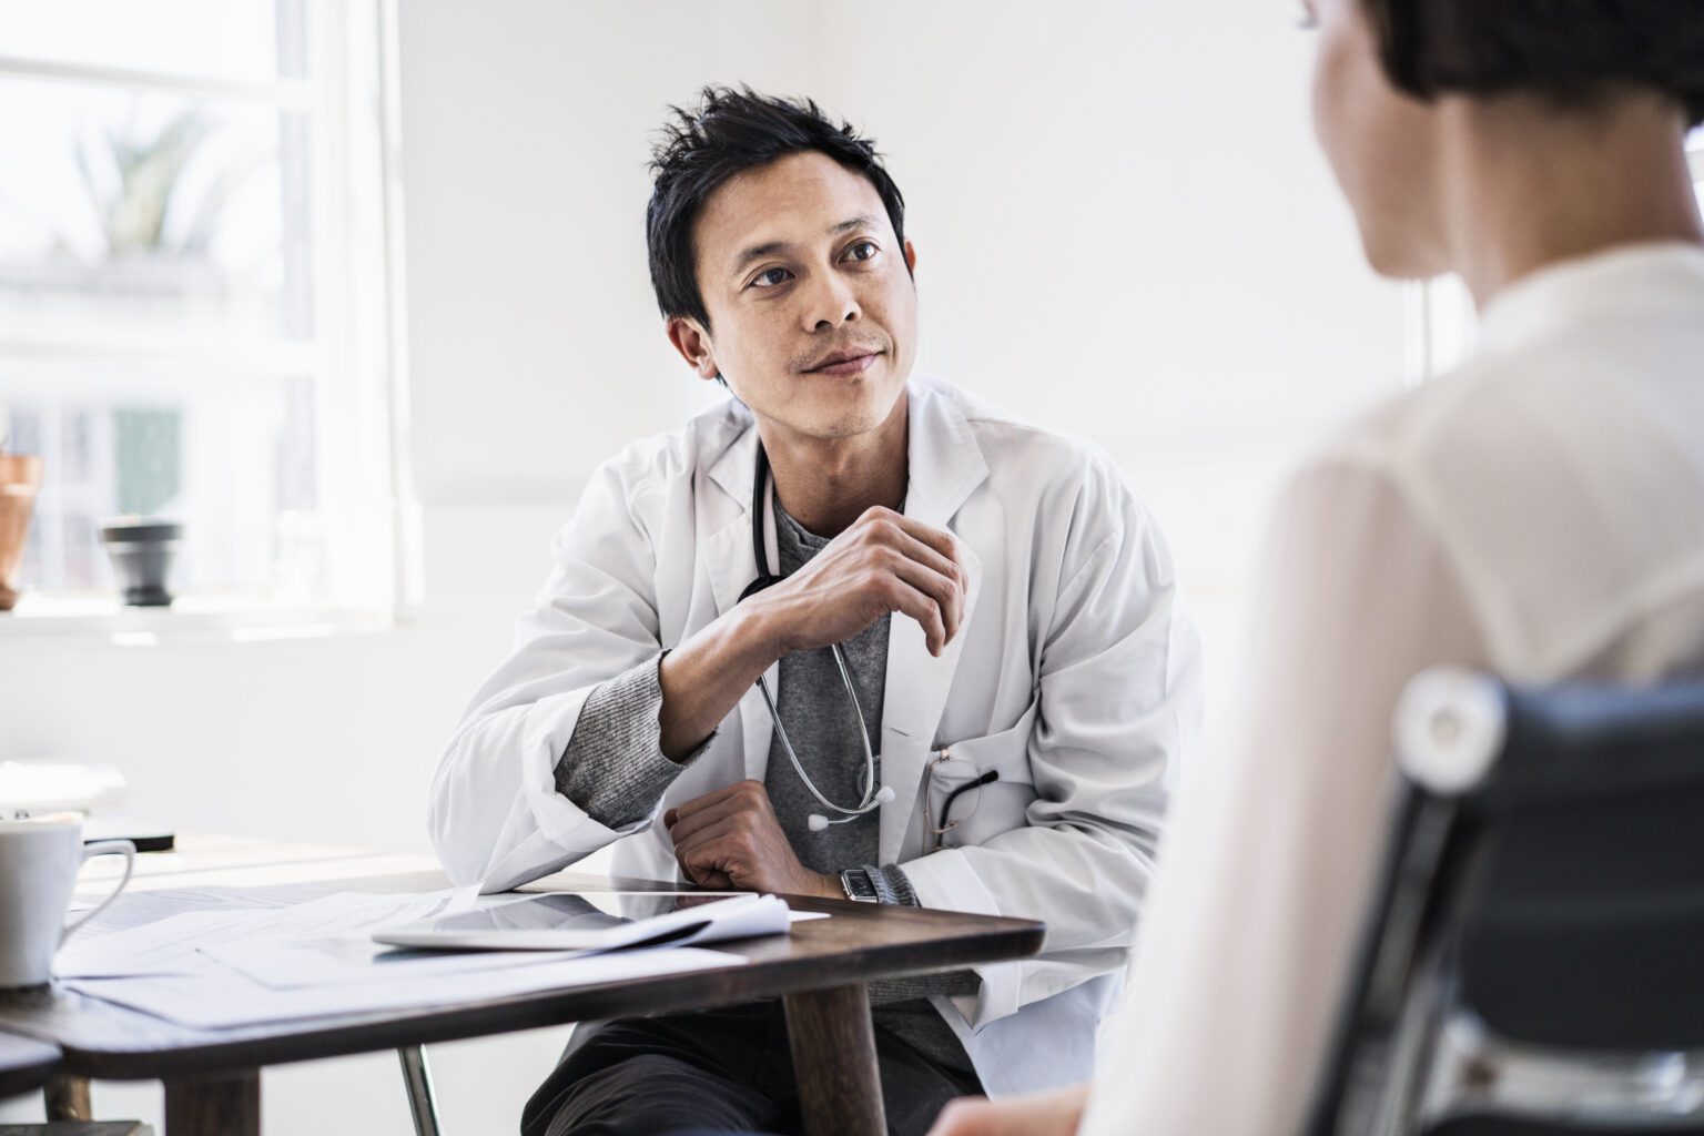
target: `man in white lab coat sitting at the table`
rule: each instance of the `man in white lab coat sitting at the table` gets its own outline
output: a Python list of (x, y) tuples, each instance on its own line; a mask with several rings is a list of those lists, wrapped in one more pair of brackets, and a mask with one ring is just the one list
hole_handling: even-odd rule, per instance
[[(750, 90), (676, 114), (653, 284), (734, 399), (596, 472), (431, 833), (484, 891), (620, 841), (624, 875), (1043, 920), (1034, 961), (872, 988), (889, 1131), (920, 1133), (1091, 1073), (1196, 639), (1102, 453), (912, 375), (915, 250), (871, 143)], [(523, 1131), (789, 1129), (779, 1022), (583, 1029)]]

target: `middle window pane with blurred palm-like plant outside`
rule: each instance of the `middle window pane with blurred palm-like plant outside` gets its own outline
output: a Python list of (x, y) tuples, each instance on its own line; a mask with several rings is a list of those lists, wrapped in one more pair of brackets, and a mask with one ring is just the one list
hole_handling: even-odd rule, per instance
[(0, 80), (0, 336), (314, 334), (308, 119)]

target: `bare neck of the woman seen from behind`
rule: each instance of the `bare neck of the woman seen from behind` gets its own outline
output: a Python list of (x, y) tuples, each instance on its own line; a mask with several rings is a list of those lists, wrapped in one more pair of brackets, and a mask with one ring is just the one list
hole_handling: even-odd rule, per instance
[(1452, 261), (1474, 301), (1617, 245), (1704, 244), (1685, 121), (1644, 92), (1559, 109), (1539, 95), (1447, 99), (1442, 186)]

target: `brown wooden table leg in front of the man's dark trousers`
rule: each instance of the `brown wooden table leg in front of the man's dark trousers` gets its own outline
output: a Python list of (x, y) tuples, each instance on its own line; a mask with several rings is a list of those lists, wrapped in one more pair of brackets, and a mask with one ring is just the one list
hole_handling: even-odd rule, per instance
[(886, 1136), (864, 986), (787, 995), (786, 1007), (806, 1136)]

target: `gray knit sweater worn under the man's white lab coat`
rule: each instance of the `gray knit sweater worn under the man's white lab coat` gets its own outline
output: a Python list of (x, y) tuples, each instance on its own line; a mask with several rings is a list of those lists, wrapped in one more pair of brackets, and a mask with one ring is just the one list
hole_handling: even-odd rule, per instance
[[(828, 540), (787, 516), (779, 497), (774, 499), (774, 506), (780, 574), (791, 576), (826, 547)], [(878, 751), (879, 783), (888, 620), (876, 620), (840, 644), (840, 651), (852, 674), (859, 707), (864, 710), (871, 746)], [(711, 743), (707, 737), (678, 763), (663, 756), (659, 663), (661, 656), (648, 659), (598, 686), (586, 698), (574, 736), (556, 768), (557, 790), (608, 828), (630, 824), (651, 812), (682, 770)], [(864, 724), (854, 714), (830, 651), (804, 651), (780, 661), (777, 709), (794, 753), (816, 782), (816, 789), (838, 806), (855, 806), (862, 795), (864, 778), (864, 749), (857, 731)], [(917, 894), (905, 870), (896, 863), (876, 863), (881, 824), (876, 811), (816, 833), (809, 829), (809, 814), (825, 812), (830, 819), (840, 819), (840, 814), (823, 809), (806, 790), (787, 760), (779, 731), (770, 743), (763, 787), (769, 790), (782, 833), (804, 867), (825, 874), (866, 867), (876, 879), (883, 903), (917, 906)], [(978, 986), (980, 979), (970, 971), (872, 983), (876, 1027), (900, 1036), (939, 1064), (968, 1071), (970, 1059), (963, 1046), (924, 996), (968, 995)]]

